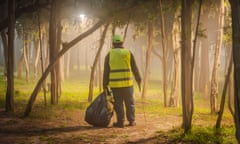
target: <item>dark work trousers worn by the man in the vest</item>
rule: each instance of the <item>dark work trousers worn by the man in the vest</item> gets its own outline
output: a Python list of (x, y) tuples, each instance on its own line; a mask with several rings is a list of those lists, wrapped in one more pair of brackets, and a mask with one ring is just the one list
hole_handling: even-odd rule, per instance
[(117, 122), (124, 123), (125, 112), (129, 122), (135, 121), (135, 105), (133, 98), (133, 87), (111, 88), (114, 97), (114, 110), (117, 114)]

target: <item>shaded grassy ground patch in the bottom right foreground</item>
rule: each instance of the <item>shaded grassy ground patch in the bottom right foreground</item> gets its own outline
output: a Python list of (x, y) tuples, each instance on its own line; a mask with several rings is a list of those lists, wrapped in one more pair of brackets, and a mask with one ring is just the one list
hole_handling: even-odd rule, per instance
[(229, 132), (229, 127), (221, 130), (211, 127), (195, 127), (190, 133), (185, 134), (183, 129), (176, 128), (169, 131), (159, 131), (153, 137), (139, 139), (137, 141), (128, 142), (129, 144), (233, 144), (236, 143), (234, 135)]

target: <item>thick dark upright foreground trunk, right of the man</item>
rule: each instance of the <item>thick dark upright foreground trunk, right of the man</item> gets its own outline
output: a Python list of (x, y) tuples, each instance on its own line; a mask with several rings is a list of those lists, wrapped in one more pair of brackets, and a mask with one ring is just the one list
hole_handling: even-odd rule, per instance
[(191, 16), (192, 0), (182, 0), (182, 45), (181, 45), (181, 75), (182, 75), (182, 111), (183, 128), (187, 133), (192, 127), (193, 94), (192, 94), (192, 37)]

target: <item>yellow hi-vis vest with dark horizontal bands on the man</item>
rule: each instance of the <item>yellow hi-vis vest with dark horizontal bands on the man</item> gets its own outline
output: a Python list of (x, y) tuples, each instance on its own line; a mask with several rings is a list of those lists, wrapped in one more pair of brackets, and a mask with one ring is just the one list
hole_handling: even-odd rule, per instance
[(112, 88), (129, 87), (133, 85), (131, 70), (131, 53), (127, 49), (114, 48), (109, 53), (109, 86)]

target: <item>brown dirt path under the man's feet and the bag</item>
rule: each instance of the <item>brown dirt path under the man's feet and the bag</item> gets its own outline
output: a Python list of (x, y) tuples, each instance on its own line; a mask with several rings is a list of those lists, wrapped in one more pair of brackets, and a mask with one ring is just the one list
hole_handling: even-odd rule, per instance
[[(0, 112), (0, 144), (125, 144), (166, 143), (167, 137), (156, 138), (156, 132), (179, 127), (181, 117), (136, 114), (134, 127), (96, 128), (84, 121), (84, 111), (60, 112), (55, 119), (21, 119)], [(115, 121), (113, 117), (112, 122)], [(126, 123), (127, 124), (127, 123)]]

